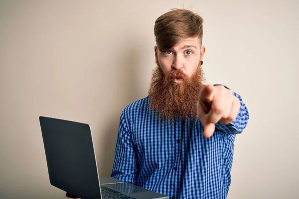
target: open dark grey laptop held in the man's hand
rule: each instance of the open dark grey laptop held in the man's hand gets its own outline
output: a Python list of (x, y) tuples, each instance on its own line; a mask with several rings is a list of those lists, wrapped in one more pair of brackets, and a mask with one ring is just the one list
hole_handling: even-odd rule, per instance
[(45, 116), (39, 122), (52, 186), (80, 199), (167, 199), (112, 177), (99, 178), (89, 124)]

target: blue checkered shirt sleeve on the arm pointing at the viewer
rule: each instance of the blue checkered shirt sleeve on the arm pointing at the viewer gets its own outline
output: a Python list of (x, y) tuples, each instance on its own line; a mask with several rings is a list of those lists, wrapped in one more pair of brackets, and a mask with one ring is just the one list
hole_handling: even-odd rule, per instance
[[(214, 85), (216, 86), (216, 85)], [(224, 86), (227, 88), (226, 86)], [(229, 88), (227, 88), (229, 89)], [(237, 93), (233, 92), (234, 96), (236, 96), (241, 103), (240, 110), (238, 112), (237, 118), (233, 120), (229, 124), (223, 124), (220, 121), (215, 124), (215, 127), (218, 128), (219, 130), (222, 130), (225, 133), (228, 134), (237, 134), (237, 133), (242, 133), (245, 127), (247, 126), (248, 119), (249, 119), (249, 112), (248, 109), (243, 102), (242, 98), (240, 95)]]

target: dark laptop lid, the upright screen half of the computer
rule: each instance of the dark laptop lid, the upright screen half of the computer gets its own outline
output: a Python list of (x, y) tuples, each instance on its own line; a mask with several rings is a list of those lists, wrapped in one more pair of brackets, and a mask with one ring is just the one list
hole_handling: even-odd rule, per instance
[(45, 116), (39, 121), (50, 184), (79, 198), (101, 199), (90, 126)]

